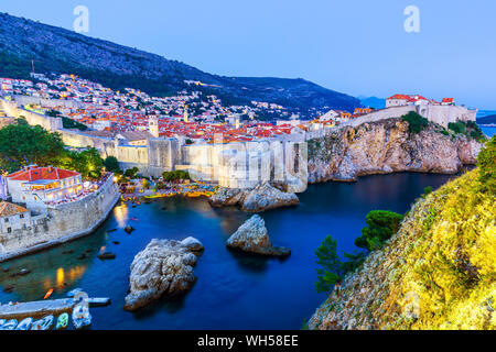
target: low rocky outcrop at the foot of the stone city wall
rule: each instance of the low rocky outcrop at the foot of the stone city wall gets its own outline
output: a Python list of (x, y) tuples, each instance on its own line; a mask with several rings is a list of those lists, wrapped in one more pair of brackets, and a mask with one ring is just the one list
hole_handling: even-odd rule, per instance
[(281, 191), (265, 183), (250, 190), (219, 188), (209, 198), (209, 202), (213, 207), (240, 206), (244, 211), (260, 212), (298, 206), (300, 200), (295, 194)]

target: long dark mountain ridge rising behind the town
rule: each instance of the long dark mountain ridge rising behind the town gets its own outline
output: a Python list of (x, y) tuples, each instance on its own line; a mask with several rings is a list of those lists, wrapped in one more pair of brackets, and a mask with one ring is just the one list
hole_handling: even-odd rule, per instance
[(349, 111), (360, 106), (352, 96), (302, 78), (213, 75), (158, 54), (0, 13), (0, 75), (28, 78), (32, 59), (39, 73), (76, 74), (114, 89), (132, 87), (158, 96), (187, 89), (184, 80), (198, 80), (209, 86), (195, 89), (231, 105), (267, 101), (303, 114), (312, 108)]

